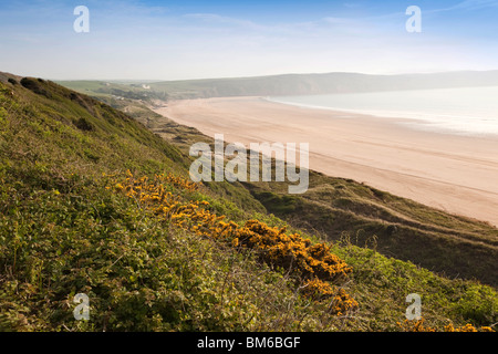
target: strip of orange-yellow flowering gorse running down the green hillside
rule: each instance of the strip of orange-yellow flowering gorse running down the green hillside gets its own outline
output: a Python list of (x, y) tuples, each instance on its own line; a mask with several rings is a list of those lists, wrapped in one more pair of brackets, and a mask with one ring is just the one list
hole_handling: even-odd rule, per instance
[[(272, 269), (281, 269), (301, 282), (340, 282), (352, 271), (351, 267), (332, 254), (324, 243), (313, 244), (311, 240), (297, 233), (286, 233), (284, 228), (269, 227), (258, 220), (248, 220), (242, 227), (234, 221), (226, 222), (225, 216), (217, 216), (206, 209), (209, 207), (208, 201), (183, 199), (168, 190), (168, 185), (187, 192), (198, 189), (197, 184), (185, 178), (156, 175), (149, 180), (147, 177), (135, 178), (128, 170), (125, 179), (117, 177), (112, 179), (111, 185), (115, 190), (123, 190), (139, 207), (154, 212), (158, 218), (199, 236), (222, 241), (238, 250), (255, 250), (259, 259)], [(332, 289), (330, 284), (323, 283), (323, 287), (314, 287), (313, 292), (319, 292), (322, 300), (334, 298), (333, 313), (345, 314), (357, 308), (357, 303), (350, 299), (344, 290)], [(308, 292), (307, 289), (305, 293)]]

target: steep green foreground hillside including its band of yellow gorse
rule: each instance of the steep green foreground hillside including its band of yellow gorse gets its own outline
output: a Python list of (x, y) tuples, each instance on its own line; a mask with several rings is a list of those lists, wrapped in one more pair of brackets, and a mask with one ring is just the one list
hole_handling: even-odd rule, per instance
[[(468, 330), (497, 322), (491, 287), (437, 275), (351, 237), (329, 243), (320, 230), (299, 229), (283, 186), (189, 183), (185, 146), (207, 139), (195, 129), (156, 122), (162, 137), (139, 123), (154, 122), (145, 107), (131, 111), (134, 118), (52, 82), (9, 79), (0, 77), (1, 331)], [(313, 178), (313, 188), (323, 184), (324, 176)], [(335, 189), (374, 194), (352, 181)], [(413, 209), (376, 194), (398, 204), (397, 212)], [(421, 210), (413, 228), (425, 220)], [(360, 211), (351, 214), (361, 219)], [(437, 222), (447, 226), (429, 227)], [(463, 233), (492, 231), (455, 222)], [(413, 292), (425, 327), (398, 324)], [(76, 293), (90, 298), (90, 321), (73, 316)]]

